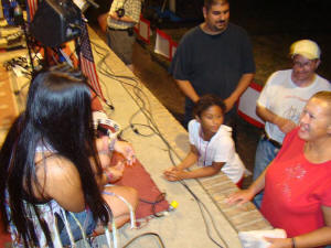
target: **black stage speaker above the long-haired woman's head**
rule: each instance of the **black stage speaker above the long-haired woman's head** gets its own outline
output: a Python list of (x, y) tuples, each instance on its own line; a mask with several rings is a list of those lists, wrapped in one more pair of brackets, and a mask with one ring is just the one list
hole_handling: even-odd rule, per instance
[(82, 12), (72, 0), (43, 0), (30, 32), (43, 45), (56, 47), (81, 34)]

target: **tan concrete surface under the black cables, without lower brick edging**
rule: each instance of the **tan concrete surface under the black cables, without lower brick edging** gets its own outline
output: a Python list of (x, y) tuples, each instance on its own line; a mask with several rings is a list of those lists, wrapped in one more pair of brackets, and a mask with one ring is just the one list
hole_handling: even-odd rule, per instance
[[(92, 35), (93, 43), (100, 43), (102, 41)], [(102, 52), (102, 51), (99, 51)], [(106, 52), (103, 51), (102, 54)], [(96, 62), (100, 57), (96, 57)], [(132, 77), (132, 74), (125, 68), (117, 57), (110, 52), (107, 60), (108, 76), (100, 76), (104, 94), (106, 98), (110, 98), (115, 111), (108, 111), (108, 115), (118, 121), (122, 128), (130, 125), (132, 114), (139, 109), (141, 98), (148, 106), (150, 117), (152, 120), (147, 120), (149, 112), (139, 112), (132, 122), (150, 125), (156, 122), (158, 130), (162, 133), (159, 136), (142, 137), (137, 136), (131, 129), (124, 132), (124, 138), (129, 140), (138, 154), (139, 161), (145, 165), (151, 177), (158, 185), (161, 192), (167, 193), (169, 202), (175, 200), (179, 203), (178, 209), (170, 212), (168, 216), (161, 218), (152, 218), (141, 229), (131, 230), (128, 225), (120, 229), (121, 246), (129, 239), (139, 234), (147, 231), (158, 233), (166, 247), (217, 247), (211, 239), (207, 238), (206, 227), (203, 223), (199, 205), (193, 196), (180, 183), (170, 183), (162, 176), (162, 171), (169, 168), (172, 163), (167, 151), (167, 145), (162, 141), (167, 140), (172, 150), (172, 155), (175, 162), (183, 158), (188, 152), (189, 141), (188, 133), (181, 125), (170, 115), (170, 112), (159, 103), (159, 100), (140, 83), (122, 79), (124, 77)], [(124, 82), (122, 82), (124, 80)], [(137, 90), (139, 87), (139, 90)], [(143, 94), (141, 94), (141, 91)], [(148, 129), (139, 127), (139, 131), (148, 133)], [(221, 244), (222, 247), (241, 247), (237, 239), (235, 228), (227, 222), (227, 219), (220, 213), (218, 207), (213, 203), (213, 200), (206, 194), (201, 184), (191, 180), (188, 181), (188, 186), (196, 194), (196, 196), (206, 205), (209, 212), (213, 216), (220, 237), (212, 230), (214, 239)], [(234, 187), (235, 188), (235, 187)], [(207, 220), (207, 226), (211, 228), (211, 219)], [(120, 246), (120, 247), (121, 247)], [(141, 240), (132, 244), (132, 247), (161, 247), (157, 244), (154, 237), (145, 237)]]

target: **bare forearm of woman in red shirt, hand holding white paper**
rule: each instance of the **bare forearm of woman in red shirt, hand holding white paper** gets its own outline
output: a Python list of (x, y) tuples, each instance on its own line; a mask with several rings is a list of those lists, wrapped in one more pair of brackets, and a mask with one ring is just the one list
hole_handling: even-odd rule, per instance
[(273, 245), (270, 248), (296, 248), (319, 247), (331, 244), (331, 207), (322, 206), (325, 226), (317, 230), (293, 238), (266, 238)]

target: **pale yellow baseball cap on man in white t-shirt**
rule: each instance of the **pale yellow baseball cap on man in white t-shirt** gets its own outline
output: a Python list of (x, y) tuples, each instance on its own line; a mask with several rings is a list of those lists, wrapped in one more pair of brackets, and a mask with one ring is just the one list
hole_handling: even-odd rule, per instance
[(316, 60), (320, 58), (321, 56), (321, 50), (319, 45), (310, 40), (300, 40), (291, 44), (290, 47), (290, 55), (302, 55), (303, 57), (307, 57), (308, 60)]

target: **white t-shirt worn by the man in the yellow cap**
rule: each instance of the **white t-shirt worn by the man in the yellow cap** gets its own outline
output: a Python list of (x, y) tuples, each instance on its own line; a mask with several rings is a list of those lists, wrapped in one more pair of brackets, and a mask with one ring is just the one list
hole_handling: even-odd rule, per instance
[[(277, 116), (298, 123), (300, 115), (309, 98), (318, 91), (331, 91), (330, 83), (316, 74), (314, 82), (307, 87), (298, 87), (291, 79), (292, 69), (278, 71), (267, 80), (257, 104), (269, 109)], [(285, 133), (270, 122), (265, 126), (268, 136), (282, 143)]]

